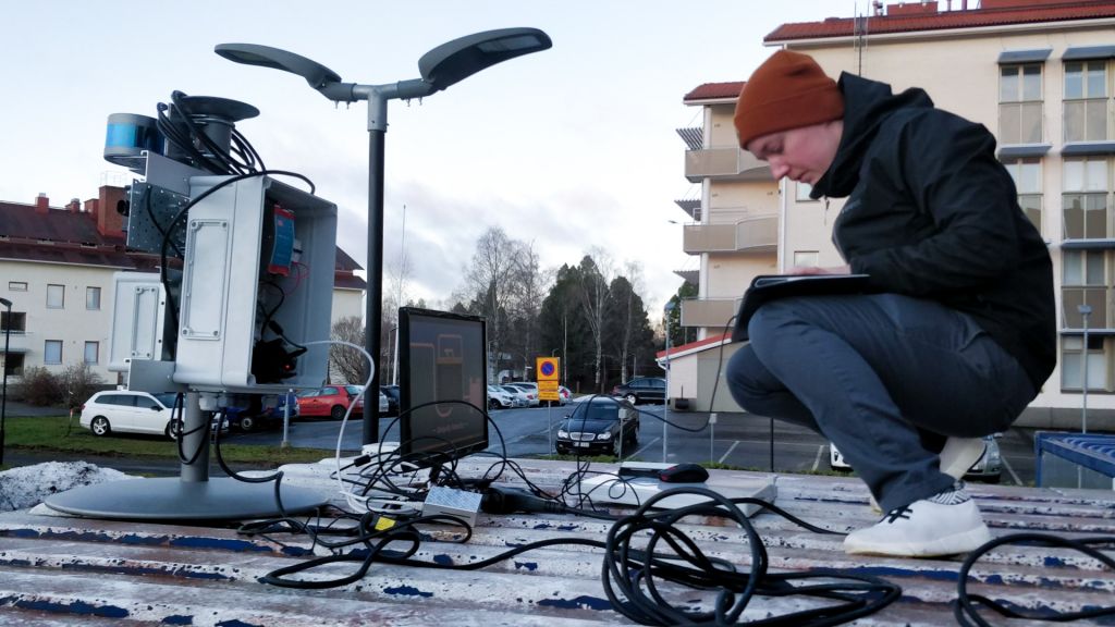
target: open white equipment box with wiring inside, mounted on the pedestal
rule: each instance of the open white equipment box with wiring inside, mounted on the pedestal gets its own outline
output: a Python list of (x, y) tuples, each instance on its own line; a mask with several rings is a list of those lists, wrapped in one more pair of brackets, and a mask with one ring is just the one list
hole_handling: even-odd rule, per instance
[[(227, 176), (191, 179), (190, 196)], [(266, 272), (265, 216), (274, 204), (293, 213), (294, 260), (289, 274)], [(237, 181), (190, 209), (180, 298), (174, 380), (200, 390), (282, 392), (326, 380), (329, 345), (308, 346), (294, 375), (259, 382), (252, 356), (261, 319), (273, 319), (292, 343), (329, 339), (337, 206), (269, 176)], [(263, 339), (274, 339), (270, 329)], [(288, 350), (294, 346), (287, 345)]]

